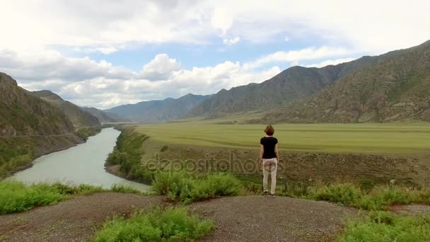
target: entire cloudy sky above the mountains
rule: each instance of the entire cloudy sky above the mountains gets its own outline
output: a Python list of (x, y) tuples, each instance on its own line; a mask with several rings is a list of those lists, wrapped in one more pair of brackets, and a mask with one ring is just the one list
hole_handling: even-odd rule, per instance
[(0, 71), (78, 105), (216, 93), (430, 40), (430, 1), (0, 0)]

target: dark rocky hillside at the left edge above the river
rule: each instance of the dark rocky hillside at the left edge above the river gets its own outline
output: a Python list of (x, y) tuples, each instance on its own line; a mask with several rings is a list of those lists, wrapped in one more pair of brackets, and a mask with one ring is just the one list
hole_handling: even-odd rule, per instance
[(0, 137), (74, 132), (62, 110), (30, 95), (15, 80), (0, 72)]

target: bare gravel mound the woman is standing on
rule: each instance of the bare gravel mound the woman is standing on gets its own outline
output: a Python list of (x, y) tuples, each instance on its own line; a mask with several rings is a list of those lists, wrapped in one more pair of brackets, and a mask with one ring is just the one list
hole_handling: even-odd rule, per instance
[(289, 197), (223, 197), (189, 206), (214, 219), (204, 241), (332, 241), (358, 210)]

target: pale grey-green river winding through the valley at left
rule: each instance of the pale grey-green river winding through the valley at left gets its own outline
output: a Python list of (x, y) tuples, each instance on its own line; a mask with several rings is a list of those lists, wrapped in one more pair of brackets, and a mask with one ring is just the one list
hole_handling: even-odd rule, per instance
[(120, 132), (113, 128), (102, 129), (100, 134), (89, 137), (86, 143), (35, 159), (31, 168), (16, 173), (11, 179), (26, 183), (61, 181), (103, 188), (121, 184), (140, 191), (149, 190), (148, 185), (134, 183), (105, 171), (106, 158), (119, 135)]

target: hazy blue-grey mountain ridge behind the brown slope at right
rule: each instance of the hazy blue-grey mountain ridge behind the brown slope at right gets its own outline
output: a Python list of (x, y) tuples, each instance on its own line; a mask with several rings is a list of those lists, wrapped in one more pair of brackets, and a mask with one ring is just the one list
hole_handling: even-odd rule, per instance
[(342, 77), (397, 54), (399, 53), (379, 57), (365, 56), (352, 62), (322, 68), (290, 67), (262, 83), (222, 89), (194, 107), (188, 116), (268, 110), (291, 101), (306, 100)]

